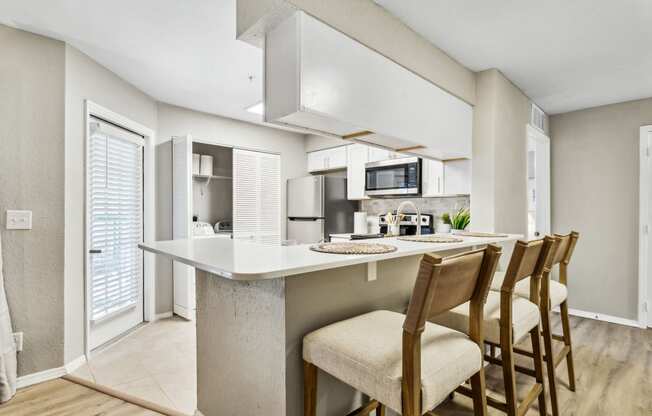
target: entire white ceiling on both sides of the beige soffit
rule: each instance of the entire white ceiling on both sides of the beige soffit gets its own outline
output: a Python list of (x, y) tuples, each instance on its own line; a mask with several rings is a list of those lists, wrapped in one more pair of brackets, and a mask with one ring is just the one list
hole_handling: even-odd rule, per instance
[[(652, 96), (650, 0), (375, 1), (550, 114)], [(262, 51), (235, 40), (235, 0), (2, 0), (0, 22), (64, 40), (157, 100), (261, 120), (244, 108), (262, 99)]]

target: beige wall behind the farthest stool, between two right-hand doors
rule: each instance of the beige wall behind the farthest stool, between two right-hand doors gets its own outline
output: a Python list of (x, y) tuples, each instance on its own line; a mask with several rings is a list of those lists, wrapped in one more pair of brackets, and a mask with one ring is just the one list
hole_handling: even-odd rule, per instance
[(580, 232), (571, 308), (637, 319), (639, 128), (652, 99), (550, 117), (553, 231)]

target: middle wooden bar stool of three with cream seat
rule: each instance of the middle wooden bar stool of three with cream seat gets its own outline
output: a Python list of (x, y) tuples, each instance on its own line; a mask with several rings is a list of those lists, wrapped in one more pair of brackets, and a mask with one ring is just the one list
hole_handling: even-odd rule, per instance
[[(544, 270), (550, 268), (552, 254), (558, 241), (546, 237), (536, 241), (518, 241), (514, 246), (507, 272), (503, 278), (500, 292), (490, 291), (484, 309), (485, 342), (492, 347), (500, 347), (501, 358), (486, 356), (491, 364), (501, 365), (505, 383), (505, 402), (487, 396), (487, 404), (509, 416), (523, 415), (538, 399), (539, 414), (546, 415), (546, 398), (543, 380), (543, 353), (539, 336), (539, 284)], [(531, 276), (533, 292), (529, 299), (513, 296), (514, 286), (519, 281)], [(469, 305), (460, 305), (432, 319), (439, 325), (467, 333)], [(534, 353), (534, 372), (531, 374), (536, 382), (520, 404), (516, 397), (516, 380), (514, 363), (514, 346), (530, 335)], [(468, 395), (469, 391), (461, 387), (458, 391)]]

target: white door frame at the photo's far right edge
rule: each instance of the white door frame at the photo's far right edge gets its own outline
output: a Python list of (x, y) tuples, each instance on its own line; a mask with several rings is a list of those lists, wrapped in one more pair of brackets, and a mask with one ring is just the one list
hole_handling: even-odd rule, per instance
[(641, 328), (652, 326), (652, 313), (649, 308), (649, 291), (652, 289), (652, 267), (650, 267), (650, 234), (652, 222), (650, 207), (650, 186), (652, 186), (652, 166), (650, 146), (652, 146), (652, 125), (640, 128), (639, 146), (639, 227), (638, 227), (638, 324)]

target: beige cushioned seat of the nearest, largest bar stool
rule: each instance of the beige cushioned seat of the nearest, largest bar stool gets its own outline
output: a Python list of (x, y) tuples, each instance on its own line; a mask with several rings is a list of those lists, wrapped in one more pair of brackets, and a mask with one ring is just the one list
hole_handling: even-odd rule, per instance
[[(304, 360), (401, 412), (405, 315), (375, 311), (306, 335)], [(480, 370), (482, 355), (468, 336), (427, 323), (421, 336), (422, 408), (432, 409)]]

